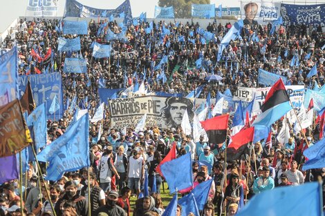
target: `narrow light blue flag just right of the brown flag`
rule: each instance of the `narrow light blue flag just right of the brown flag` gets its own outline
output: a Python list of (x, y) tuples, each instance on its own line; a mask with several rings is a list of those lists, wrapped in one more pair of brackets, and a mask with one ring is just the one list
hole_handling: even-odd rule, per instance
[(46, 104), (41, 104), (35, 108), (27, 117), (27, 126), (32, 127), (32, 139), (36, 149), (46, 146)]

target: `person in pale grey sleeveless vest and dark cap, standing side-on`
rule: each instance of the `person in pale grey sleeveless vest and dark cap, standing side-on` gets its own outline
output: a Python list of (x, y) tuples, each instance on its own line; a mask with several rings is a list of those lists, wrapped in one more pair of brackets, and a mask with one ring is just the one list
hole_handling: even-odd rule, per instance
[(118, 175), (118, 171), (114, 166), (112, 153), (113, 148), (111, 146), (106, 146), (104, 154), (100, 159), (100, 188), (102, 188), (104, 192), (111, 190), (113, 174), (120, 179), (120, 175)]

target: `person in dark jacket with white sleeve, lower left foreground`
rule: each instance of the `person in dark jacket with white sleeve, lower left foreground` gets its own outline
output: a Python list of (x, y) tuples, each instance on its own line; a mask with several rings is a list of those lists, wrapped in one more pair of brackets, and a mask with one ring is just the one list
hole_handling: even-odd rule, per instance
[(91, 214), (93, 215), (93, 213), (95, 213), (95, 210), (97, 210), (97, 208), (99, 208), (100, 206), (104, 206), (106, 204), (105, 201), (105, 193), (104, 190), (102, 190), (102, 188), (100, 188), (99, 186), (96, 185), (96, 174), (95, 173), (89, 173), (89, 182), (88, 179), (86, 179), (85, 184), (86, 186), (84, 186), (81, 190), (80, 195), (82, 195), (83, 197), (86, 198), (86, 200), (88, 200), (88, 183), (91, 186)]

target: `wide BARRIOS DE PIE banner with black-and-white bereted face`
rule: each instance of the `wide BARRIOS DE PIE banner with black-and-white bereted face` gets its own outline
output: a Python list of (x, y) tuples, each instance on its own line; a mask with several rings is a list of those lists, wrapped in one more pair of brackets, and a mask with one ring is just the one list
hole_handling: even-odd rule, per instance
[(136, 127), (147, 113), (146, 126), (177, 128), (182, 123), (185, 110), (193, 121), (193, 101), (185, 97), (131, 97), (109, 100), (111, 127)]

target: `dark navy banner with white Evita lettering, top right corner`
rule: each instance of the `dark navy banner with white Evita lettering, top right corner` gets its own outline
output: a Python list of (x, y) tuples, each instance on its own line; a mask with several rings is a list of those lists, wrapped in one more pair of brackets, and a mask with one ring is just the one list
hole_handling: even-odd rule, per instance
[(281, 3), (281, 17), (284, 19), (284, 26), (313, 24), (314, 27), (324, 26), (325, 4), (316, 5), (294, 5)]

